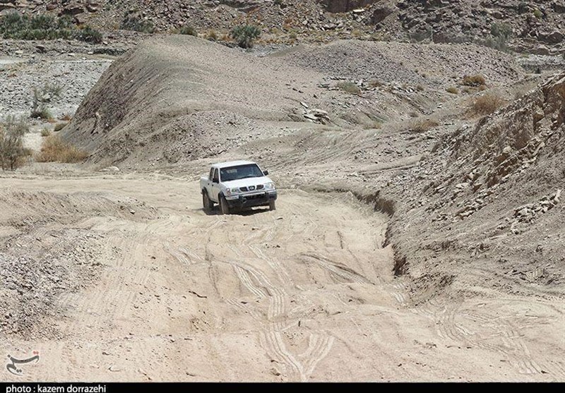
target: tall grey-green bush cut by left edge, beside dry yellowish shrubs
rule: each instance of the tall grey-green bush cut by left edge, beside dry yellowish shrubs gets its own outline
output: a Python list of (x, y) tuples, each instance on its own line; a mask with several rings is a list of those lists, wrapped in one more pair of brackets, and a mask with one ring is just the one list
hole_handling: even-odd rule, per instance
[(31, 152), (23, 147), (23, 135), (29, 131), (28, 123), (13, 116), (0, 123), (0, 168), (11, 170), (21, 167)]

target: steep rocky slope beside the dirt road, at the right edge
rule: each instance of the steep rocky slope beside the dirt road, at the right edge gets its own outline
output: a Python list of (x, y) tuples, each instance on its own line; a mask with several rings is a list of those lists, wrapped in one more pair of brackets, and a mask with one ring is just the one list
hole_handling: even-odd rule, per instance
[(472, 292), (456, 265), (477, 282), (494, 272), (489, 286), (510, 294), (552, 296), (550, 287), (565, 286), (564, 114), (557, 73), (393, 179), (387, 193), (403, 198), (389, 229), (396, 272), (414, 279), (420, 301), (432, 287)]

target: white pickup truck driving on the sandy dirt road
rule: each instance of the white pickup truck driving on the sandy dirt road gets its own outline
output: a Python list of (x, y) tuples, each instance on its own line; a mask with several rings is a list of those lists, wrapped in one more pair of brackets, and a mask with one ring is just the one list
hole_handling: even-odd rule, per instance
[(200, 179), (204, 210), (210, 212), (215, 203), (220, 205), (220, 214), (256, 206), (275, 210), (277, 190), (268, 174), (251, 161), (213, 164), (208, 176)]

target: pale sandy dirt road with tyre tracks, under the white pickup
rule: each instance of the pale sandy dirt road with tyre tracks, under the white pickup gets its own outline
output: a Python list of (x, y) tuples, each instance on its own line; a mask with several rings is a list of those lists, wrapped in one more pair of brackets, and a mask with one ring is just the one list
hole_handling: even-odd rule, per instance
[(157, 215), (37, 224), (101, 237), (102, 267), (57, 298), (56, 316), (38, 315), (53, 334), (1, 337), (0, 352), (41, 358), (0, 380), (565, 380), (562, 303), (485, 294), (409, 308), (381, 247), (388, 217), (352, 195), (283, 189), (274, 212), (222, 216), (201, 210), (197, 183), (165, 176), (1, 183), (136, 198)]

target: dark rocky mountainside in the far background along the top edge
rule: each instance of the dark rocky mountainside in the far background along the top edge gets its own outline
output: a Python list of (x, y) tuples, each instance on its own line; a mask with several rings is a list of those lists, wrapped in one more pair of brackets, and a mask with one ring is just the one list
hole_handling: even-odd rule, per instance
[[(225, 34), (254, 23), (267, 40), (363, 37), (409, 42), (478, 42), (516, 52), (565, 52), (564, 0), (0, 0), (0, 13), (49, 11), (115, 30), (126, 18), (167, 32), (192, 25)], [(151, 29), (149, 29), (151, 30)]]

